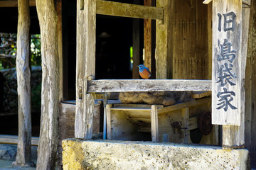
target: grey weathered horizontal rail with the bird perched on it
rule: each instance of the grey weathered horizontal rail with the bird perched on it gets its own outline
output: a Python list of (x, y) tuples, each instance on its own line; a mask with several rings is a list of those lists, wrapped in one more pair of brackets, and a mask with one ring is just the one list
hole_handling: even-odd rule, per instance
[(88, 93), (124, 91), (211, 91), (211, 80), (101, 79), (88, 81)]

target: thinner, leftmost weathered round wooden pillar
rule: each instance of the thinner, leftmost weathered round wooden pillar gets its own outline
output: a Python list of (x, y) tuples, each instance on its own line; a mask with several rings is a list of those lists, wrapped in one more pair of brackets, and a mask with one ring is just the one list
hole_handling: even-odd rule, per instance
[(16, 73), (18, 84), (18, 145), (14, 166), (33, 166), (31, 163), (31, 70), (29, 1), (18, 0), (18, 37)]

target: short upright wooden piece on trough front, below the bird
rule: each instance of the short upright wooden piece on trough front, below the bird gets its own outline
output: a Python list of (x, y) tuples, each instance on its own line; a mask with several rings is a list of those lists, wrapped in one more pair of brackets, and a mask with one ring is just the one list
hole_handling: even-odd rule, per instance
[(158, 126), (158, 113), (157, 106), (151, 106), (151, 138), (152, 142), (159, 142), (159, 126)]

